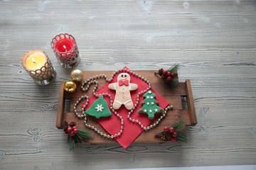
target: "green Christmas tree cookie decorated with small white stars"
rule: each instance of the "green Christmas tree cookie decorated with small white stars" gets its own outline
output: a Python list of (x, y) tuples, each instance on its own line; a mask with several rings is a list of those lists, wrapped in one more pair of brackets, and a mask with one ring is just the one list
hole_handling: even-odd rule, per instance
[(143, 97), (145, 99), (141, 102), (142, 108), (139, 109), (138, 113), (146, 113), (149, 119), (153, 119), (156, 113), (164, 111), (163, 108), (159, 107), (159, 101), (156, 101), (155, 99), (156, 94), (152, 91), (146, 91), (146, 94), (144, 94)]

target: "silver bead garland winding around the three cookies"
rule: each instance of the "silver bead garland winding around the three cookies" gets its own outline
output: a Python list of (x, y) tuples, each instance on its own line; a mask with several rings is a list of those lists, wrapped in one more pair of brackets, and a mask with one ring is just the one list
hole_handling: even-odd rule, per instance
[[(112, 81), (113, 77), (115, 74), (118, 74), (119, 72), (127, 72), (128, 74), (133, 74), (134, 76), (138, 77), (139, 79), (142, 79), (142, 81), (146, 82), (146, 84), (148, 84), (148, 87), (146, 88), (146, 90), (144, 91), (139, 91), (138, 95), (137, 95), (137, 100), (136, 100), (136, 103), (134, 104), (134, 107), (129, 111), (128, 115), (127, 115), (127, 118), (129, 119), (129, 121), (131, 121), (132, 123), (137, 123), (142, 129), (144, 130), (150, 130), (151, 128), (154, 128), (156, 125), (158, 125), (160, 123), (161, 120), (163, 120), (165, 117), (166, 117), (166, 113), (167, 111), (169, 111), (169, 109), (172, 109), (173, 106), (167, 106), (166, 108), (164, 108), (164, 113), (162, 113), (162, 115), (160, 116), (160, 118), (158, 118), (156, 120), (155, 123), (151, 124), (151, 125), (148, 125), (148, 126), (144, 126), (142, 125), (142, 123), (139, 121), (139, 120), (135, 120), (134, 118), (132, 118), (132, 113), (134, 112), (135, 108), (137, 108), (138, 104), (139, 104), (139, 97), (142, 96), (143, 94), (146, 93), (146, 91), (149, 91), (149, 89), (151, 89), (151, 84), (149, 83), (149, 81), (147, 79), (145, 79), (144, 77), (142, 77), (142, 75), (139, 75), (135, 72), (132, 72), (132, 70), (129, 70), (129, 69), (118, 69), (116, 70), (110, 77), (110, 79), (107, 78), (107, 76), (105, 74), (100, 74), (100, 75), (96, 75), (96, 76), (93, 76), (93, 77), (90, 77), (88, 78), (87, 80), (85, 80), (83, 83), (82, 83), (82, 86), (81, 86), (81, 89), (82, 91), (86, 92), (88, 91), (88, 89), (90, 88), (90, 85), (92, 84), (95, 84), (93, 90), (92, 90), (92, 94), (94, 96), (96, 96), (97, 98), (99, 96), (107, 96), (110, 98), (110, 110), (112, 111), (112, 113), (114, 113), (114, 115), (117, 116), (117, 118), (120, 119), (120, 130), (119, 132), (117, 132), (116, 134), (114, 135), (108, 135), (104, 132), (101, 132), (100, 130), (98, 130), (97, 128), (95, 128), (93, 125), (90, 125), (87, 123), (87, 115), (85, 113), (85, 107), (87, 106), (88, 102), (89, 102), (89, 96), (87, 95), (84, 95), (84, 96), (81, 96), (80, 98), (78, 98), (78, 101), (76, 101), (75, 105), (74, 105), (74, 113), (75, 115), (78, 117), (78, 118), (84, 118), (84, 123), (85, 123), (85, 126), (87, 128), (90, 128), (92, 130), (94, 130), (95, 132), (97, 132), (97, 134), (103, 136), (103, 137), (106, 137), (106, 138), (115, 138), (115, 137), (119, 137), (120, 135), (122, 135), (122, 132), (123, 132), (123, 128), (124, 128), (124, 119), (122, 118), (121, 115), (119, 115), (117, 113), (117, 111), (112, 108), (113, 106), (113, 100), (112, 100), (112, 96), (108, 93), (105, 93), (105, 94), (96, 94), (96, 90), (97, 90), (97, 87), (98, 87), (98, 82), (96, 81), (96, 79), (105, 79), (105, 81)], [(87, 86), (85, 87), (85, 85), (87, 84)], [(85, 105), (82, 106), (82, 113), (78, 113), (77, 111), (77, 106), (78, 106), (78, 103), (80, 103), (80, 101), (82, 100), (86, 100), (85, 101)]]

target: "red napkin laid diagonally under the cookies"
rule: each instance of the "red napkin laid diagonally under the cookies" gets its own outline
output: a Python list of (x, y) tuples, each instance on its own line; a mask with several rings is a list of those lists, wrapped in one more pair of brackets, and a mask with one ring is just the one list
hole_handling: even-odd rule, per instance
[[(124, 67), (124, 69), (129, 70), (128, 67)], [(119, 72), (118, 74), (120, 74), (120, 73), (122, 73), (122, 72)], [(96, 94), (108, 93), (108, 94), (111, 94), (111, 96), (114, 100), (115, 91), (109, 89), (108, 85), (110, 83), (117, 82), (118, 74), (115, 74), (112, 82), (107, 82), (104, 86), (102, 86), (101, 89), (99, 89), (96, 92)], [(142, 75), (142, 76), (144, 76), (144, 75)], [(149, 85), (146, 84), (144, 81), (142, 81), (142, 79), (139, 79), (139, 77), (135, 76), (134, 74), (130, 74), (130, 77), (131, 77), (130, 82), (138, 85), (137, 90), (130, 91), (131, 96), (132, 96), (132, 101), (135, 104), (137, 101), (137, 95), (139, 94), (139, 92), (146, 90), (146, 88), (148, 88)], [(159, 101), (159, 106), (161, 108), (166, 108), (166, 106), (169, 105), (169, 102), (166, 101), (165, 98), (160, 96), (153, 89), (151, 89), (151, 91), (154, 94), (156, 94), (156, 101)], [(97, 99), (97, 97), (95, 97), (93, 95), (90, 96), (88, 106), (86, 106), (85, 110), (87, 110), (87, 108), (89, 108), (96, 99)], [(110, 106), (110, 98), (108, 96), (104, 96), (104, 99), (105, 99), (105, 101), (107, 101), (108, 106)], [(137, 108), (134, 109), (134, 112), (131, 114), (131, 117), (134, 118), (135, 120), (138, 119), (142, 123), (142, 125), (144, 125), (146, 127), (146, 126), (150, 125), (153, 120), (149, 120), (147, 114), (138, 113), (139, 108), (142, 108), (142, 105), (140, 104), (140, 102), (143, 100), (144, 100), (144, 97), (143, 97), (143, 95), (141, 95), (139, 97), (139, 104), (137, 105)], [(84, 105), (84, 103), (82, 103), (82, 105)], [(117, 110), (117, 113), (119, 113), (119, 115), (121, 115), (122, 118), (124, 119), (124, 125), (123, 125), (124, 129), (123, 129), (122, 135), (120, 135), (119, 137), (114, 138), (114, 139), (117, 140), (117, 142), (119, 142), (119, 144), (122, 145), (122, 147), (127, 148), (144, 131), (144, 129), (142, 129), (138, 123), (133, 123), (132, 121), (129, 120), (129, 118), (127, 118), (129, 110), (127, 110), (123, 105), (121, 106), (121, 108), (119, 108)], [(119, 118), (117, 118), (116, 115), (114, 115), (114, 113), (112, 113), (112, 115), (108, 118), (97, 119), (97, 122), (100, 123), (100, 125), (102, 125), (102, 127), (105, 130), (107, 130), (107, 132), (109, 132), (110, 135), (117, 134), (120, 130), (121, 121)]]

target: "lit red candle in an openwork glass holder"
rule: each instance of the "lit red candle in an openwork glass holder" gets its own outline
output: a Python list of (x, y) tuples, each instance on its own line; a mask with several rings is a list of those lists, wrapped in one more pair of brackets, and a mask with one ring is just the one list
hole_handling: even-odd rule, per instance
[(61, 67), (70, 69), (79, 64), (80, 55), (78, 45), (72, 35), (67, 33), (56, 35), (50, 42), (50, 45)]

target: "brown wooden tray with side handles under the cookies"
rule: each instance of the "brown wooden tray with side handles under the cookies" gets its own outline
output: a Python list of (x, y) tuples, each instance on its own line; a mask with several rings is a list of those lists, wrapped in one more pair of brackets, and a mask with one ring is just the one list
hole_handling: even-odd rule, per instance
[[(154, 70), (134, 70), (134, 72), (142, 75), (146, 79), (148, 79), (151, 83), (152, 89), (157, 91), (161, 96), (166, 98), (169, 101), (170, 105), (174, 106), (174, 109), (167, 113), (166, 118), (161, 120), (158, 126), (151, 130), (146, 130), (142, 132), (139, 137), (134, 142), (137, 143), (149, 143), (149, 142), (163, 142), (162, 140), (154, 137), (156, 132), (163, 131), (164, 126), (170, 126), (176, 121), (183, 119), (186, 125), (196, 125), (196, 110), (193, 103), (193, 94), (191, 89), (191, 81), (187, 79), (185, 82), (179, 82), (179, 86), (176, 89), (170, 88), (164, 81), (157, 77), (154, 74)], [(111, 77), (113, 74), (112, 71), (86, 71), (83, 72), (84, 79), (88, 79), (92, 76), (96, 76), (99, 74), (105, 74), (107, 77)], [(97, 79), (98, 81), (98, 89), (105, 84), (105, 79)], [(90, 87), (89, 91), (84, 93), (82, 89), (80, 89), (81, 84), (78, 84), (78, 89), (74, 93), (68, 93), (64, 90), (64, 82), (60, 83), (60, 96), (58, 102), (58, 113), (57, 113), (57, 128), (64, 128), (65, 120), (69, 123), (74, 121), (77, 123), (77, 126), (80, 128), (85, 128), (84, 120), (78, 119), (75, 115), (74, 104), (80, 98), (80, 96), (87, 94), (88, 96), (92, 95), (92, 87)], [(67, 111), (68, 110), (68, 111)], [(78, 109), (79, 111), (79, 109)], [(79, 111), (80, 113), (80, 111)], [(106, 132), (96, 120), (88, 120), (90, 125), (94, 125), (95, 128), (101, 130), (102, 132)], [(96, 145), (96, 144), (109, 144), (114, 143), (116, 140), (106, 139), (105, 137), (101, 137), (97, 135), (95, 132), (92, 132), (93, 138), (90, 140), (88, 144)]]

